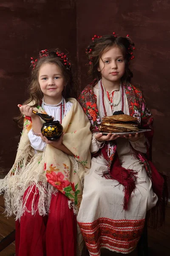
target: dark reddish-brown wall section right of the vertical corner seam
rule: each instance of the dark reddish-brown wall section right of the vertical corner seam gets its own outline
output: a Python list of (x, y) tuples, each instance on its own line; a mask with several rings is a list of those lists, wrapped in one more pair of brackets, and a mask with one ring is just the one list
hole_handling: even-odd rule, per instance
[[(170, 2), (156, 0), (77, 0), (78, 77), (87, 76), (85, 48), (96, 35), (130, 35), (136, 51), (133, 84), (141, 86), (154, 115), (153, 161), (170, 175)], [(170, 182), (169, 182), (170, 184)]]

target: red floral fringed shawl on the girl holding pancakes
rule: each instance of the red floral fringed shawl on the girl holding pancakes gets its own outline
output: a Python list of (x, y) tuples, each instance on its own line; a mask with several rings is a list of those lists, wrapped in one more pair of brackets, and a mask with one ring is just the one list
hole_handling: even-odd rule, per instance
[[(96, 95), (93, 91), (95, 84), (96, 79), (85, 87), (78, 98), (80, 105), (82, 106), (84, 112), (88, 116), (89, 121), (91, 122), (92, 133), (99, 131), (98, 125), (101, 122), (99, 111), (96, 105)], [(145, 133), (147, 140), (147, 154), (143, 154), (134, 149), (133, 151), (136, 157), (144, 164), (147, 175), (152, 180), (153, 191), (159, 198), (158, 204), (160, 202), (163, 204), (165, 197), (167, 197), (167, 189), (165, 189), (164, 186), (164, 175), (159, 173), (151, 162), (153, 116), (150, 113), (150, 110), (147, 108), (147, 104), (144, 100), (141, 90), (137, 89), (132, 84), (127, 84), (125, 87), (125, 93), (129, 105), (130, 116), (137, 117), (140, 128), (151, 129), (151, 131)], [(134, 170), (122, 168), (118, 154), (116, 152), (116, 143), (114, 140), (112, 142), (106, 143), (104, 148), (102, 148), (101, 151), (98, 151), (97, 154), (102, 154), (108, 161), (108, 172), (103, 173), (105, 178), (116, 179), (120, 184), (124, 186), (124, 209), (127, 209), (130, 195), (135, 189), (137, 172)], [(163, 216), (161, 216), (161, 219), (163, 219)]]

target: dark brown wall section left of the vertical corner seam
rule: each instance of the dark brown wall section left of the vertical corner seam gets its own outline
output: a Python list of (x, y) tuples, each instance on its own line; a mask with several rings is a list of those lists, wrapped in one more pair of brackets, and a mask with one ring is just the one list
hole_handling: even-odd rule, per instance
[[(3, 2), (3, 3), (2, 3)], [(20, 131), (12, 121), (26, 99), (30, 57), (65, 48), (76, 69), (75, 0), (14, 0), (0, 3), (0, 175), (14, 163)]]

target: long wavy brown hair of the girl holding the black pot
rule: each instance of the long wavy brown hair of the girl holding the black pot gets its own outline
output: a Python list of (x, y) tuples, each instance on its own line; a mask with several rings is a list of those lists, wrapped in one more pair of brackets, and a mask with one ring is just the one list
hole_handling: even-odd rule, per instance
[[(59, 51), (59, 50), (58, 50)], [(50, 51), (48, 52), (48, 56), (38, 58), (36, 62), (36, 66), (32, 70), (31, 73), (31, 82), (28, 86), (28, 94), (29, 97), (28, 99), (23, 102), (23, 105), (29, 104), (30, 102), (33, 102), (32, 107), (37, 107), (40, 105), (41, 99), (43, 97), (43, 93), (40, 89), (40, 84), (38, 82), (38, 77), (39, 77), (39, 71), (40, 67), (43, 64), (56, 64), (59, 69), (62, 72), (62, 75), (65, 79), (65, 86), (64, 90), (62, 91), (62, 96), (67, 100), (68, 98), (77, 98), (77, 81), (74, 77), (74, 74), (72, 72), (72, 68), (68, 69), (62, 60), (56, 52)], [(23, 126), (23, 115), (20, 114), (20, 116), (15, 117), (14, 121), (17, 122), (17, 124), (22, 127)]]

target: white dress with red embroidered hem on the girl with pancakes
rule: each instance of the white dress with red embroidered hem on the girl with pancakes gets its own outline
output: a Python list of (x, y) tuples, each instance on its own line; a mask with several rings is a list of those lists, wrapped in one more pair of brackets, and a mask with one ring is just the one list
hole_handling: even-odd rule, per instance
[[(97, 97), (99, 115), (102, 118), (99, 90), (94, 88), (94, 93)], [(114, 94), (109, 93), (110, 95), (113, 97), (113, 102), (118, 102), (118, 90), (115, 90)], [(121, 110), (121, 102), (111, 109), (106, 96), (104, 101), (107, 116)], [(126, 97), (125, 101), (125, 113), (129, 114)], [(123, 210), (123, 186), (117, 180), (102, 177), (102, 171), (107, 170), (104, 159), (98, 156), (91, 160), (91, 169), (85, 176), (82, 203), (77, 216), (90, 256), (100, 256), (100, 248), (107, 248), (117, 253), (130, 253), (140, 239), (146, 211), (154, 207), (158, 200), (142, 162), (130, 151), (131, 144), (136, 150), (146, 153), (145, 142), (145, 138), (136, 142), (125, 138), (116, 140), (117, 153), (122, 167), (138, 172), (136, 190), (129, 200), (129, 209), (126, 211)], [(98, 150), (99, 148), (92, 139), (91, 152)]]

